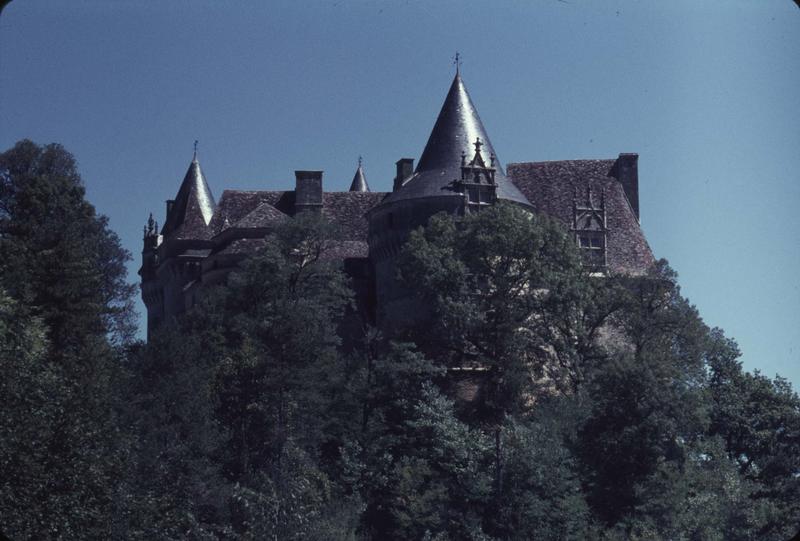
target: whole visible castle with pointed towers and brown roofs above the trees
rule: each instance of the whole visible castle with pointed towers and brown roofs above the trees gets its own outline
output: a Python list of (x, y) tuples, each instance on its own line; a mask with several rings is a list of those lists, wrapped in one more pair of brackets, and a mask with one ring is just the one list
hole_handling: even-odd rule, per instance
[(225, 190), (215, 201), (195, 153), (161, 230), (152, 216), (145, 226), (139, 274), (148, 332), (223, 283), (272, 228), (301, 212), (338, 227), (331, 257), (343, 261), (360, 310), (379, 324), (408, 313), (395, 258), (410, 231), (438, 212), (461, 215), (499, 200), (563, 223), (597, 272), (642, 274), (653, 255), (639, 226), (637, 161), (620, 154), (504, 170), (458, 72), (416, 169), (400, 159), (391, 192), (370, 191), (359, 162), (347, 192), (325, 192), (322, 171), (296, 171), (294, 190)]

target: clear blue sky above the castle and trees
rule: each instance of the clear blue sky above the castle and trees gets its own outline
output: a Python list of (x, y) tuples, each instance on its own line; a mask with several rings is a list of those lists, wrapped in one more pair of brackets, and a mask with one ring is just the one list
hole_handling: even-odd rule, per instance
[[(461, 73), (503, 163), (639, 153), (642, 227), (746, 368), (800, 387), (800, 9), (790, 0), (40, 2), (0, 16), (0, 149), (78, 159), (133, 253), (200, 141), (214, 195), (374, 190)], [(140, 305), (141, 310), (141, 305)]]

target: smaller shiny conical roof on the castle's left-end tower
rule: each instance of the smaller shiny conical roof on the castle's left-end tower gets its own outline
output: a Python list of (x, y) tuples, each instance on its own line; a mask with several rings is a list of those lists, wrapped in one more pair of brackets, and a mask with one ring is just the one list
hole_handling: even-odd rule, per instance
[(216, 203), (206, 183), (197, 156), (192, 158), (189, 170), (175, 196), (175, 203), (164, 222), (162, 235), (175, 234), (181, 238), (203, 238)]

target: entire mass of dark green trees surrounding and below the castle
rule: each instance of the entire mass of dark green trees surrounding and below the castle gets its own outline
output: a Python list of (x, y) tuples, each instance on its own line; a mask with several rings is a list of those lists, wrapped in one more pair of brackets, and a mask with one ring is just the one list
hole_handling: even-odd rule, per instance
[[(305, 213), (148, 344), (74, 159), (0, 155), (0, 526), (15, 539), (782, 540), (800, 400), (742, 370), (664, 262), (590, 276), (498, 204), (415, 232), (427, 310), (342, 345)], [(384, 331), (389, 332), (389, 331)]]

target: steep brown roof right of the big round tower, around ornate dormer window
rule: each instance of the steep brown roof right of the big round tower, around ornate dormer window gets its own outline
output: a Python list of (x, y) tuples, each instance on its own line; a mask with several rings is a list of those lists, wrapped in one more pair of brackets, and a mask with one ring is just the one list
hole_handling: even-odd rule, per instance
[(622, 184), (612, 176), (616, 160), (566, 160), (508, 164), (508, 176), (534, 209), (567, 227), (573, 224), (573, 199), (583, 203), (591, 187), (595, 201), (604, 191), (608, 226), (607, 258), (611, 270), (642, 274), (653, 253), (631, 208)]

